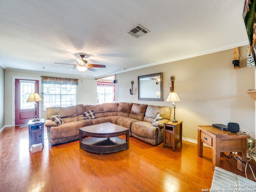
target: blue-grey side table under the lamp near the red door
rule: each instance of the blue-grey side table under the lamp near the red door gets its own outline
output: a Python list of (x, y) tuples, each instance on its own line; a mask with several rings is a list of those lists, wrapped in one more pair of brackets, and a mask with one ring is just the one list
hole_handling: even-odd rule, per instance
[(44, 146), (44, 119), (40, 119), (40, 121), (32, 122), (29, 120), (28, 122), (28, 141), (29, 141), (29, 149), (31, 145), (42, 143)]

